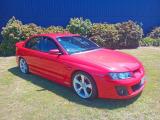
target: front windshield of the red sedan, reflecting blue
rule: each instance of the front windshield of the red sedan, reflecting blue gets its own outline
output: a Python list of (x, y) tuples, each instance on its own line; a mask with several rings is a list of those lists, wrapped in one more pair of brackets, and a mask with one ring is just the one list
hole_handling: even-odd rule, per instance
[(69, 54), (100, 48), (91, 40), (80, 36), (58, 37), (57, 40)]

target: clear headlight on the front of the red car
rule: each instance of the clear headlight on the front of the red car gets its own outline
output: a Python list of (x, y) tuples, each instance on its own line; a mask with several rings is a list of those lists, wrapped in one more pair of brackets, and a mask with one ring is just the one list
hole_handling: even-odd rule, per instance
[(132, 77), (131, 72), (111, 72), (109, 73), (109, 76), (113, 80), (123, 80), (123, 79), (128, 79)]

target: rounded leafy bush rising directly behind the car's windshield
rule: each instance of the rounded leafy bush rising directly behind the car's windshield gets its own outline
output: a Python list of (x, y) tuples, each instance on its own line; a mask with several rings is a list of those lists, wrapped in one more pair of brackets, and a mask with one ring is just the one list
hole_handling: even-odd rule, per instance
[(84, 20), (83, 18), (71, 18), (67, 29), (71, 33), (88, 36), (92, 28), (92, 23), (89, 19)]

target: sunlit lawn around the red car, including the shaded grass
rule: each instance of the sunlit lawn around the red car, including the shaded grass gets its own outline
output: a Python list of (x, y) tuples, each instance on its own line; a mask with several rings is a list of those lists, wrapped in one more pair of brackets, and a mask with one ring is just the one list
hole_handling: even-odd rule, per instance
[(160, 48), (121, 51), (146, 69), (143, 93), (130, 100), (85, 101), (69, 88), (21, 74), (15, 57), (0, 57), (0, 120), (160, 120)]

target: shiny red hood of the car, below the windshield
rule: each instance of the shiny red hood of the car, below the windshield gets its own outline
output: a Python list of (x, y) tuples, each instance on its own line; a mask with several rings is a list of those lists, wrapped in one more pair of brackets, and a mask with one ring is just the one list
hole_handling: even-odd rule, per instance
[(140, 67), (140, 62), (133, 56), (109, 49), (96, 49), (72, 55), (76, 59), (107, 68), (110, 71), (133, 71)]

